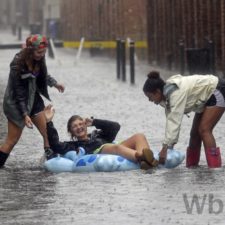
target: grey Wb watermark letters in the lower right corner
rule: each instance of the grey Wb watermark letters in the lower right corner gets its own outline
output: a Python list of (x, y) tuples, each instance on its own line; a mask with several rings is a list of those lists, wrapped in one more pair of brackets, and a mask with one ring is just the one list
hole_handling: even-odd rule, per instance
[[(223, 212), (223, 202), (221, 199), (215, 199), (213, 194), (204, 194), (200, 197), (196, 194), (192, 198), (187, 197), (187, 194), (183, 194), (183, 200), (188, 214), (193, 214), (194, 208), (198, 214), (202, 214), (205, 205), (208, 205), (209, 214), (220, 214)], [(208, 204), (207, 204), (208, 203)]]

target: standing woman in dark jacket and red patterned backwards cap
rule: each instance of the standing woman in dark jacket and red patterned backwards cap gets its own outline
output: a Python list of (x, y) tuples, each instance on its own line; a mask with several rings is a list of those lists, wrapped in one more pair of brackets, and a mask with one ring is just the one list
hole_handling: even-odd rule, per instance
[(48, 75), (45, 63), (47, 39), (42, 35), (31, 35), (26, 47), (17, 53), (10, 64), (10, 74), (4, 95), (3, 109), (8, 119), (8, 135), (0, 146), (0, 167), (5, 164), (9, 153), (18, 142), (24, 126), (38, 128), (48, 153), (49, 143), (44, 102), (40, 95), (50, 100), (47, 86), (54, 86), (59, 92), (64, 86)]

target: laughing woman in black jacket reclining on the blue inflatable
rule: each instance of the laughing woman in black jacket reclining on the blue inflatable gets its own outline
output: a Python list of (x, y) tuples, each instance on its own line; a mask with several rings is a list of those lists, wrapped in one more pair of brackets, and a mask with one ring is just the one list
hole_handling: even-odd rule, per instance
[[(137, 133), (119, 144), (113, 143), (120, 129), (117, 122), (100, 119), (82, 118), (78, 115), (72, 116), (67, 122), (67, 130), (71, 135), (71, 141), (59, 141), (56, 128), (52, 119), (55, 110), (52, 105), (48, 105), (45, 110), (47, 121), (47, 134), (49, 144), (53, 150), (47, 159), (57, 154), (64, 155), (69, 151), (79, 152), (79, 147), (85, 149), (86, 154), (113, 154), (122, 156), (132, 162), (140, 163), (140, 168), (147, 170), (158, 166), (158, 161), (154, 158), (153, 152), (144, 134)], [(87, 132), (87, 128), (95, 126), (92, 133)]]

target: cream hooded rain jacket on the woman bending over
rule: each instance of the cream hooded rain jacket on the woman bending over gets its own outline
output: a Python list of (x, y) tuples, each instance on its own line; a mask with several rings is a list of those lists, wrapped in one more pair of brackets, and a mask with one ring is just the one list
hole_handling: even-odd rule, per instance
[[(173, 146), (177, 143), (183, 115), (189, 112), (201, 113), (207, 100), (218, 84), (214, 75), (171, 76), (164, 86), (166, 97), (166, 129), (163, 144)], [(172, 93), (166, 93), (169, 86), (175, 86)]]

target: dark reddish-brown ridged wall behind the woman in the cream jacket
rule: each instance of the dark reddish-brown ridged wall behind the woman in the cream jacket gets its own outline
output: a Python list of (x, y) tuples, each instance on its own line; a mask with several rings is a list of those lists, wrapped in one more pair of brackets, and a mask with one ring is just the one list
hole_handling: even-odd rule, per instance
[(225, 0), (149, 0), (149, 61), (179, 69), (179, 40), (185, 48), (215, 44), (215, 66), (225, 71)]

